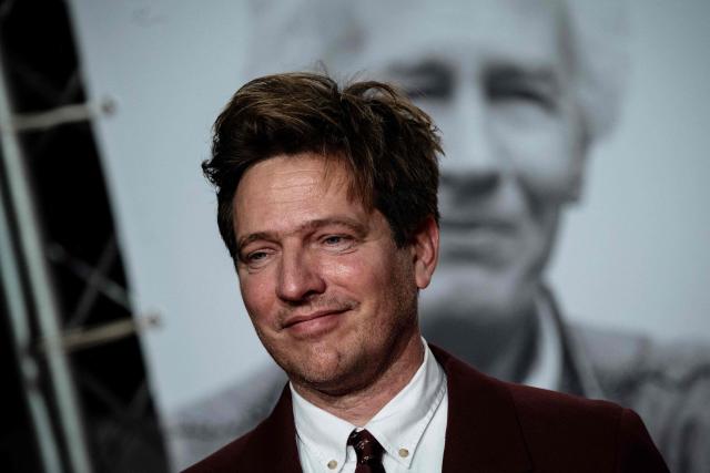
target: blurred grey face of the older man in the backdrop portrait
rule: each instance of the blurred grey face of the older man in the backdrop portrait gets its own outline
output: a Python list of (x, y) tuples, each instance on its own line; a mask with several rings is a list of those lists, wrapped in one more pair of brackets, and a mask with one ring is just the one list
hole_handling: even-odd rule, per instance
[(363, 13), (356, 62), (402, 84), (442, 131), (442, 260), (423, 312), (521, 313), (584, 164), (559, 12), (530, 0), (395, 3)]

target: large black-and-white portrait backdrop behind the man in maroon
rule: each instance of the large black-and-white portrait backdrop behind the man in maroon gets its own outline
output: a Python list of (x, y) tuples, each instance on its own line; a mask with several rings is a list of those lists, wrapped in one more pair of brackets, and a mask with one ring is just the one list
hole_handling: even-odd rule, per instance
[[(443, 140), (427, 341), (495, 377), (635, 409), (710, 471), (710, 3), (71, 0), (116, 246), (178, 471), (265, 417), (262, 348), (200, 164), (250, 79), (404, 90)], [(471, 402), (476, 402), (471, 400)]]

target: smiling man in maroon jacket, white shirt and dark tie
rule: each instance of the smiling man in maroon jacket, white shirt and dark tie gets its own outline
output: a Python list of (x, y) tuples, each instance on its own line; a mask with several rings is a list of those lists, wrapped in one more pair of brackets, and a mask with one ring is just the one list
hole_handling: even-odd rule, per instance
[(274, 412), (187, 472), (668, 471), (638, 415), (508, 384), (435, 347), (438, 136), (390, 86), (256, 79), (215, 123), (217, 220)]

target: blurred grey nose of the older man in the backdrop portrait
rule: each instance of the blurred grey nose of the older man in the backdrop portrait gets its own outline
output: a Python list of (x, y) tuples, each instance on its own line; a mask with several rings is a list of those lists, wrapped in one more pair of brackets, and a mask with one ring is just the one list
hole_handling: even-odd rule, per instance
[(440, 124), (446, 152), (442, 187), (455, 198), (488, 194), (499, 184), (504, 163), (484, 91), (463, 88), (450, 107), (453, 113)]

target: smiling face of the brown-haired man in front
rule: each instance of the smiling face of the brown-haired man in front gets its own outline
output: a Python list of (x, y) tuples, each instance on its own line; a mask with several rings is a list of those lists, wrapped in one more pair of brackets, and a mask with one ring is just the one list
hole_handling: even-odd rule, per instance
[(413, 247), (397, 248), (378, 210), (347, 196), (337, 162), (276, 156), (251, 167), (234, 197), (237, 274), (256, 332), (301, 384), (361, 388), (416, 337)]

